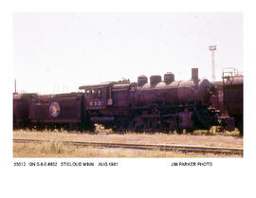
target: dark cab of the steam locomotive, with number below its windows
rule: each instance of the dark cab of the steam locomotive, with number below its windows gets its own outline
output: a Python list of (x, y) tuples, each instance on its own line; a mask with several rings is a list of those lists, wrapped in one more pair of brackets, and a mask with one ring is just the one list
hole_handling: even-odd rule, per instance
[(128, 128), (129, 81), (84, 85), (84, 111), (91, 123), (105, 128)]

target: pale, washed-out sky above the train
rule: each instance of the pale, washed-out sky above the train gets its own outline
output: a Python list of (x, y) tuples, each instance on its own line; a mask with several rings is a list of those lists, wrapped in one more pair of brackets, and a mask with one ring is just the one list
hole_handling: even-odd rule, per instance
[[(78, 91), (83, 84), (137, 81), (173, 72), (176, 81), (211, 81), (223, 68), (243, 72), (242, 12), (14, 12), (17, 91)], [(13, 85), (14, 90), (14, 85)]]

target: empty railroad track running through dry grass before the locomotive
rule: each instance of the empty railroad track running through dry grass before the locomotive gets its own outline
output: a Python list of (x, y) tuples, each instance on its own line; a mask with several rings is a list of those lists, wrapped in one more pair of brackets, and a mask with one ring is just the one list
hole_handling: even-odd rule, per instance
[[(14, 143), (45, 143), (52, 142), (51, 140), (37, 139), (13, 139)], [(60, 141), (64, 144), (79, 146), (79, 147), (97, 147), (97, 148), (122, 148), (122, 149), (137, 149), (137, 150), (159, 150), (166, 152), (183, 152), (183, 153), (214, 153), (214, 154), (237, 154), (243, 155), (243, 149), (208, 147), (208, 146), (192, 146), (192, 145), (142, 145), (142, 144), (116, 144), (116, 143), (101, 143), (101, 142), (77, 142), (77, 141)]]

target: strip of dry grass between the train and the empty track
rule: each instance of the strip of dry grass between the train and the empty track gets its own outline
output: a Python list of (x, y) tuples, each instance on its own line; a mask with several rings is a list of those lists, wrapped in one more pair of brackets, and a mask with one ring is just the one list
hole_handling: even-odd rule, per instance
[(83, 141), (102, 143), (123, 143), (123, 144), (187, 144), (205, 145), (227, 148), (243, 148), (243, 137), (238, 135), (176, 135), (176, 134), (147, 134), (147, 133), (126, 133), (113, 134), (101, 132), (77, 133), (62, 131), (28, 131), (18, 130), (13, 132), (13, 138), (39, 139), (50, 141)]

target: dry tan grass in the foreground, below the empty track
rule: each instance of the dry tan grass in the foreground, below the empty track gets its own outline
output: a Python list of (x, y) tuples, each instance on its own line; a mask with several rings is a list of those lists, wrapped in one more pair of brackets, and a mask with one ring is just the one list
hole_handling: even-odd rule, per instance
[(13, 157), (227, 157), (226, 155), (200, 155), (162, 151), (97, 149), (76, 147), (62, 142), (14, 143)]

